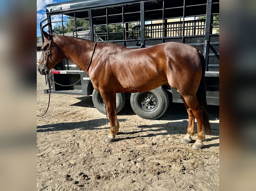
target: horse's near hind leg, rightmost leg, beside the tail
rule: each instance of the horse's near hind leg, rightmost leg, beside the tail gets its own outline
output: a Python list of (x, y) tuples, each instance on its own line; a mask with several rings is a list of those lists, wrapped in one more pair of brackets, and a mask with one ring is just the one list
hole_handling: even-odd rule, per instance
[[(196, 95), (184, 96), (185, 102), (190, 108), (189, 113), (193, 114), (197, 119), (197, 139), (192, 148), (202, 149), (204, 147), (203, 140), (205, 139), (204, 122), (203, 122), (203, 108), (200, 105)], [(193, 132), (193, 131), (191, 131)], [(195, 134), (195, 132), (194, 132)]]

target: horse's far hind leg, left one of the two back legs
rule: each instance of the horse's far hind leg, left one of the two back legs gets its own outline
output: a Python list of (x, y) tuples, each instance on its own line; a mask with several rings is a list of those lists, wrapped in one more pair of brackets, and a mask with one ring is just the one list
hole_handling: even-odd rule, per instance
[(181, 143), (190, 143), (191, 142), (191, 136), (195, 135), (195, 116), (192, 112), (192, 110), (188, 107), (184, 97), (181, 95), (181, 98), (183, 100), (184, 105), (186, 106), (187, 109), (187, 114), (188, 114), (188, 125), (187, 125), (187, 133), (181, 139)]

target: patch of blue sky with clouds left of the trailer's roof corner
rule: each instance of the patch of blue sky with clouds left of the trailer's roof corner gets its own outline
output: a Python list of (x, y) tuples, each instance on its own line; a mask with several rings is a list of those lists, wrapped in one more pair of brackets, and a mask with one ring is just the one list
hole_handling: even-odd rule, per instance
[(46, 18), (46, 5), (51, 3), (59, 3), (68, 0), (37, 0), (36, 2), (36, 36), (40, 37), (40, 22)]

